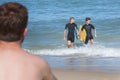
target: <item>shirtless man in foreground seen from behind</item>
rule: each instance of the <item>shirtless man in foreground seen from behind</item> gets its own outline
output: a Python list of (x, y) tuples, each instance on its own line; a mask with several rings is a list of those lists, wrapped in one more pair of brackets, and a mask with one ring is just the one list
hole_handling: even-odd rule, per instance
[(22, 49), (27, 22), (23, 5), (0, 5), (0, 80), (56, 80), (46, 61)]

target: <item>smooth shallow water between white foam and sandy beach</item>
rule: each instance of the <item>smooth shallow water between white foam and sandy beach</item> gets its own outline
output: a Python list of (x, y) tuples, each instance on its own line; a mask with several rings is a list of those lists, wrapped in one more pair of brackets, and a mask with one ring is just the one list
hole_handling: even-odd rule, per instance
[(52, 68), (120, 73), (120, 59), (113, 57), (42, 56)]

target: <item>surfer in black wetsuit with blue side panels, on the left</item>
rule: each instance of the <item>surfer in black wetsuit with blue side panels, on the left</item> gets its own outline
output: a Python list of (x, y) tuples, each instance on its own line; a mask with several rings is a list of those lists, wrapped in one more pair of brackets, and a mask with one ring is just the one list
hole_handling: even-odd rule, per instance
[(74, 46), (74, 37), (75, 37), (74, 33), (75, 32), (78, 33), (78, 27), (74, 22), (75, 22), (74, 17), (71, 17), (70, 22), (66, 24), (64, 29), (64, 40), (66, 40), (66, 30), (68, 30), (68, 34), (67, 34), (68, 47)]

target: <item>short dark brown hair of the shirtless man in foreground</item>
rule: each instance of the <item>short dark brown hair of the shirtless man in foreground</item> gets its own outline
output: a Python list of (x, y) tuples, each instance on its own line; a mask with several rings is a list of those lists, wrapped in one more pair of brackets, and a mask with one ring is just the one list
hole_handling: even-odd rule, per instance
[(28, 11), (25, 6), (16, 2), (0, 5), (0, 40), (7, 42), (21, 40), (27, 22)]

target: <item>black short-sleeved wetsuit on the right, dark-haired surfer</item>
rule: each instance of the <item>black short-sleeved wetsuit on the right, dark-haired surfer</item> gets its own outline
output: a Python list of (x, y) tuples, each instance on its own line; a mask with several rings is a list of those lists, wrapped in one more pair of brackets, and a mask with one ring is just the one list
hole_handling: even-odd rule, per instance
[(85, 29), (86, 30), (86, 40), (85, 40), (85, 44), (88, 44), (88, 41), (93, 39), (93, 35), (92, 35), (92, 29), (95, 29), (95, 27), (92, 24), (85, 24), (82, 27), (82, 30)]

